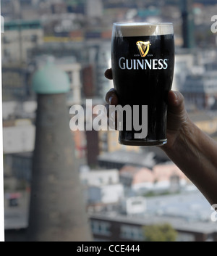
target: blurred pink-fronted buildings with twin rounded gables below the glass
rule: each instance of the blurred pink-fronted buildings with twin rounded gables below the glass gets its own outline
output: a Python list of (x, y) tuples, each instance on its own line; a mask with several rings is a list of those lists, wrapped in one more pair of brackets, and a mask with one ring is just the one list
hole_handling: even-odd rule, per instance
[(133, 195), (174, 193), (188, 183), (186, 176), (172, 162), (155, 165), (152, 170), (125, 165), (119, 172), (125, 191)]

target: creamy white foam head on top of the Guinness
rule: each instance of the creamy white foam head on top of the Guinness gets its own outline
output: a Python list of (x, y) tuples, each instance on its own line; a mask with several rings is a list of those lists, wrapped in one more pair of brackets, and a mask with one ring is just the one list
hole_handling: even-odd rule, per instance
[(174, 33), (172, 23), (122, 22), (114, 23), (113, 36), (163, 36)]

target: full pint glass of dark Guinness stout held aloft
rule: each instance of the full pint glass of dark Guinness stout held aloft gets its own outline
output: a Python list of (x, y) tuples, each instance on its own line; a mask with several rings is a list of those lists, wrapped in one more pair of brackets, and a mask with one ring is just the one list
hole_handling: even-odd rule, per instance
[(166, 99), (174, 75), (172, 23), (114, 23), (111, 63), (124, 113), (119, 143), (166, 144)]

